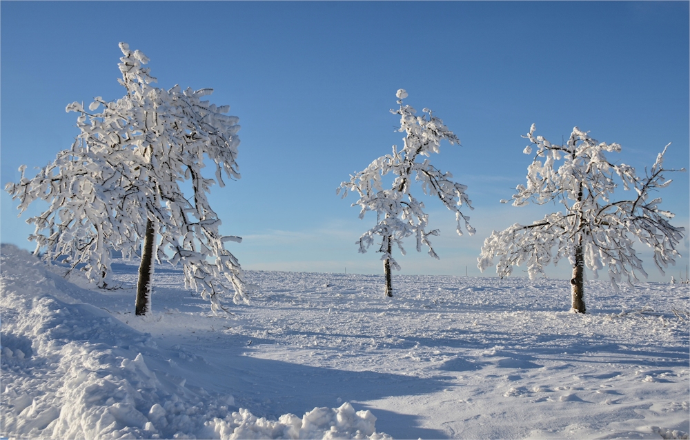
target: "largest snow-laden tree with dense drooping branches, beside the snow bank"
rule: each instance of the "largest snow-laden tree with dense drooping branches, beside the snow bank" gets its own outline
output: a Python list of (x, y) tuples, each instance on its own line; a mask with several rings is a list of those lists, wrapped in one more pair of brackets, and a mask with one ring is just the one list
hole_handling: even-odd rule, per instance
[[(237, 259), (224, 248), (239, 237), (219, 234), (220, 219), (206, 193), (222, 174), (239, 179), (238, 119), (229, 106), (202, 100), (211, 89), (156, 88), (148, 58), (119, 45), (119, 83), (127, 93), (117, 101), (101, 97), (77, 112), (81, 134), (69, 150), (57, 154), (36, 177), (8, 183), (6, 191), (19, 199), (19, 210), (35, 200), (48, 209), (27, 220), (36, 226), (29, 239), (46, 259), (61, 258), (72, 269), (83, 266), (99, 287), (112, 286), (110, 252), (135, 255), (144, 242), (137, 286), (137, 314), (145, 314), (151, 292), (153, 262), (182, 264), (185, 284), (221, 307), (219, 297), (234, 291), (246, 301), (246, 284)], [(100, 110), (100, 111), (98, 111)], [(204, 161), (215, 164), (215, 180), (201, 174)], [(181, 183), (190, 181), (186, 197)]]

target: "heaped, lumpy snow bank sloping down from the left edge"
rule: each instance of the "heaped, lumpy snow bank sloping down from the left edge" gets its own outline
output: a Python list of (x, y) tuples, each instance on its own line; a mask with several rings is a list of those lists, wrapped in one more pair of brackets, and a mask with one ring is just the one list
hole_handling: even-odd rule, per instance
[(269, 421), (171, 381), (172, 370), (147, 366), (164, 357), (150, 335), (75, 301), (91, 292), (15, 246), (0, 258), (2, 437), (390, 438), (349, 403)]

